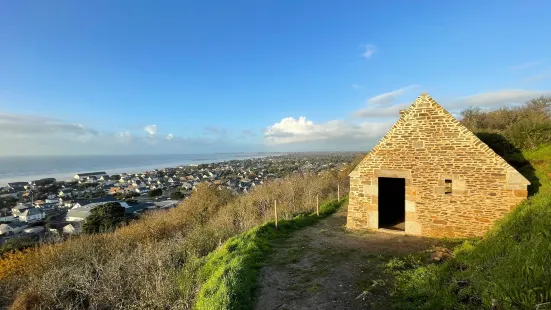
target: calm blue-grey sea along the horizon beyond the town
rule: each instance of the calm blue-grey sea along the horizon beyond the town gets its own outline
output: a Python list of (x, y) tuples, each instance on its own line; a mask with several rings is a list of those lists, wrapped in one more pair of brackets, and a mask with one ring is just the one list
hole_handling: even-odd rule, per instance
[(282, 153), (215, 153), (179, 155), (67, 155), (0, 156), (0, 186), (42, 178), (69, 180), (76, 173), (105, 171), (107, 174), (137, 173), (181, 165), (239, 160)]

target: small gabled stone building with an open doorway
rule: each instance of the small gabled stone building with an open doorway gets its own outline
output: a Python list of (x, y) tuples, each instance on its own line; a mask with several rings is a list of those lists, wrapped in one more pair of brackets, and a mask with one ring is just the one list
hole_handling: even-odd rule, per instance
[(423, 93), (350, 173), (347, 227), (480, 236), (529, 184)]

